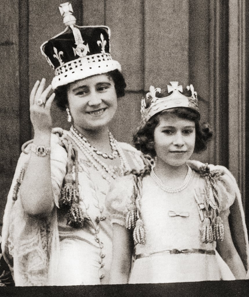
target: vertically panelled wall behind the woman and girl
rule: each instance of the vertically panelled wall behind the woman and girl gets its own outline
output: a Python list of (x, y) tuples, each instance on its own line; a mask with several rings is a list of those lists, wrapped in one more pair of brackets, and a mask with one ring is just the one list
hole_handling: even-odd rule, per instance
[[(53, 78), (53, 70), (42, 57), (40, 45), (64, 30), (58, 10), (62, 2), (0, 1), (0, 216), (20, 145), (32, 134), (28, 114), (29, 93), (37, 79), (45, 77), (49, 84)], [(235, 2), (238, 8), (241, 0)], [(211, 121), (214, 133), (218, 132), (209, 150), (193, 157), (206, 162), (221, 160), (221, 165), (227, 165), (229, 145), (233, 146), (231, 137), (228, 143), (228, 127), (223, 121), (228, 118), (228, 85), (231, 88), (230, 81), (227, 81), (228, 61), (225, 59), (227, 36), (222, 34), (223, 29), (227, 32), (227, 11), (222, 10), (219, 14), (214, 0), (72, 0), (71, 3), (77, 24), (110, 26), (111, 54), (122, 66), (128, 90), (126, 96), (120, 98), (112, 121), (111, 128), (118, 140), (131, 142), (140, 122), (140, 99), (150, 85), (166, 87), (172, 80), (178, 80), (184, 87), (192, 83), (199, 95), (202, 120)], [(236, 22), (232, 15), (231, 19)], [(230, 31), (230, 46), (237, 47), (237, 33)], [(231, 65), (235, 58), (229, 58)], [(234, 86), (237, 89), (233, 89), (235, 94), (239, 90), (237, 85)], [(216, 108), (216, 100), (219, 109)], [(231, 109), (232, 119), (237, 123)], [(55, 106), (52, 113), (54, 126), (69, 127), (65, 113)], [(229, 127), (231, 134), (234, 131), (232, 128), (237, 126), (231, 124)], [(230, 159), (231, 156), (230, 150)], [(234, 170), (237, 168), (236, 160), (233, 159)]]

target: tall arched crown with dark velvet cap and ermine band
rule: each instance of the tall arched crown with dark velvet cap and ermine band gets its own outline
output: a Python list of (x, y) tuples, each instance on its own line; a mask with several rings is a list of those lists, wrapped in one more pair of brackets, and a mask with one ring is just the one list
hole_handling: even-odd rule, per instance
[(66, 29), (41, 45), (41, 52), (55, 69), (52, 88), (92, 75), (118, 69), (110, 55), (110, 29), (107, 26), (77, 26), (69, 2), (59, 6)]

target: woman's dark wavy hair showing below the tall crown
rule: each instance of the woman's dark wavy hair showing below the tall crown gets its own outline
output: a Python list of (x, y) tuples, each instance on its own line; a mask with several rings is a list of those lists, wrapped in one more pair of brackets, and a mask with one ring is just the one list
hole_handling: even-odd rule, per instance
[[(126, 87), (126, 83), (123, 77), (123, 74), (118, 70), (112, 70), (109, 71), (107, 73), (103, 73), (105, 75), (108, 75), (112, 78), (113, 82), (114, 82), (114, 86), (115, 86), (115, 91), (117, 94), (117, 97), (123, 97), (125, 95), (125, 87)], [(56, 105), (62, 109), (65, 110), (66, 106), (68, 105), (68, 99), (67, 99), (67, 90), (68, 90), (68, 86), (64, 85), (64, 86), (59, 86), (58, 88), (55, 89), (55, 103)]]

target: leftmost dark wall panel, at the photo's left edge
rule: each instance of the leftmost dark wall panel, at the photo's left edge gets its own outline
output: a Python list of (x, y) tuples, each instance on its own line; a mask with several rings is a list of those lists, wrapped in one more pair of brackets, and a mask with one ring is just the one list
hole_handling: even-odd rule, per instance
[(19, 157), (18, 1), (0, 1), (0, 217)]

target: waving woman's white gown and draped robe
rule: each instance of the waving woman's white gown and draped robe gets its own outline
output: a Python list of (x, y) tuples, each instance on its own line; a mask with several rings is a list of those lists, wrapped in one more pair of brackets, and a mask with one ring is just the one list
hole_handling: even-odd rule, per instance
[[(63, 138), (67, 131), (63, 131)], [(80, 208), (88, 215), (82, 228), (67, 224), (67, 211), (59, 207), (62, 183), (67, 172), (68, 153), (62, 137), (51, 136), (51, 178), (56, 207), (47, 220), (24, 213), (20, 194), (13, 200), (20, 172), (30, 158), (29, 146), (22, 153), (9, 191), (4, 213), (2, 249), (14, 274), (15, 285), (106, 284), (112, 259), (112, 228), (105, 198), (110, 181), (93, 167), (77, 148)], [(70, 140), (71, 139), (71, 140)], [(144, 167), (140, 152), (118, 143), (130, 168)], [(113, 180), (113, 179), (112, 179)], [(39, 182), (39, 178), (38, 181)], [(53, 198), (51, 198), (53, 199)]]

